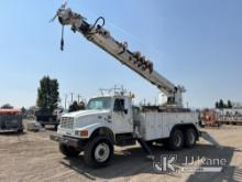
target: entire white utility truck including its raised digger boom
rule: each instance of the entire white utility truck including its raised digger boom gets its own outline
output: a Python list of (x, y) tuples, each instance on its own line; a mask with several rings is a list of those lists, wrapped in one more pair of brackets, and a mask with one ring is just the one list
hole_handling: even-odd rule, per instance
[[(133, 106), (132, 96), (123, 92), (91, 98), (86, 110), (63, 115), (57, 133), (51, 136), (52, 140), (59, 142), (62, 153), (77, 157), (84, 151), (87, 164), (103, 167), (113, 156), (113, 146), (132, 146), (138, 141), (151, 157), (148, 146), (153, 142), (163, 143), (172, 150), (196, 144), (201, 133), (199, 117), (198, 113), (183, 107), (183, 86), (172, 84), (140, 52), (131, 52), (125, 42), (113, 39), (103, 28), (102, 17), (95, 24), (89, 24), (82, 15), (64, 4), (55, 18), (63, 29), (70, 25), (74, 32), (82, 34), (167, 96), (163, 106), (142, 108)], [(63, 38), (61, 44), (63, 50)]]

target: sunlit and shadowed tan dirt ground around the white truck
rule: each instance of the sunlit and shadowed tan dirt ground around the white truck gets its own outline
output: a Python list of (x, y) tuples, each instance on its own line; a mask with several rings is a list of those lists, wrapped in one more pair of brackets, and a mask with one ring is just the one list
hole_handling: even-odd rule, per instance
[[(178, 156), (178, 168), (185, 162), (185, 156), (226, 159), (228, 165), (223, 167), (221, 173), (158, 174), (139, 146), (116, 148), (111, 165), (90, 169), (84, 164), (81, 154), (78, 159), (67, 159), (61, 154), (57, 143), (48, 139), (55, 131), (46, 130), (20, 136), (0, 135), (0, 181), (242, 181), (242, 126), (206, 130), (223, 148), (216, 148), (200, 140), (195, 149), (172, 153)], [(154, 147), (152, 150), (157, 159), (161, 154), (170, 154), (163, 147)]]

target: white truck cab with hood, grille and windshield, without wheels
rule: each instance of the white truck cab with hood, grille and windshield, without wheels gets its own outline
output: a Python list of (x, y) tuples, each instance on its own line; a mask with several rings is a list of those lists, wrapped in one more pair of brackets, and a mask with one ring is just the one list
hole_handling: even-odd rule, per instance
[(101, 127), (113, 133), (133, 132), (132, 99), (121, 95), (94, 97), (86, 110), (63, 115), (57, 133), (89, 138)]

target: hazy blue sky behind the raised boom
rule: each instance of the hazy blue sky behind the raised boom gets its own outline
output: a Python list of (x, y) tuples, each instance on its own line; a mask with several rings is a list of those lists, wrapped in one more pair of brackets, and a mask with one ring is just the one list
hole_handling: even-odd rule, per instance
[[(70, 93), (89, 98), (117, 84), (134, 92), (136, 103), (154, 101), (157, 88), (69, 29), (59, 51), (61, 25), (48, 20), (61, 3), (1, 0), (0, 105), (35, 105), (44, 75), (58, 79), (62, 98)], [(68, 6), (89, 22), (105, 17), (114, 38), (186, 87), (189, 106), (242, 101), (241, 0), (69, 0)]]

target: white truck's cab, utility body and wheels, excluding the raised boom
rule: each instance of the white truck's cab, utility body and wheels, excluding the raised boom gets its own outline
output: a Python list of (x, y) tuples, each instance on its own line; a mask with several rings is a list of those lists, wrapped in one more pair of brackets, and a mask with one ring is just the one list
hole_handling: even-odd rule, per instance
[(141, 143), (148, 156), (152, 142), (164, 143), (172, 150), (193, 148), (199, 139), (198, 114), (190, 110), (139, 108), (132, 98), (122, 94), (95, 97), (87, 110), (63, 115), (52, 140), (68, 157), (85, 151), (85, 161), (91, 167), (108, 164), (113, 146)]

